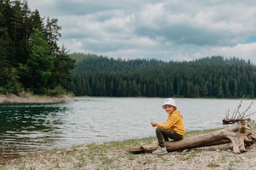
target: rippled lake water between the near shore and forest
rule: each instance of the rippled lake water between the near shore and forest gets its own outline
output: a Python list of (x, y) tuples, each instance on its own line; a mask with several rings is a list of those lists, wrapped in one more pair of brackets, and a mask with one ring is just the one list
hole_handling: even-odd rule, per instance
[[(155, 136), (150, 122), (164, 122), (164, 98), (76, 98), (58, 104), (0, 104), (0, 156), (93, 142)], [(187, 131), (222, 125), (240, 100), (175, 99)], [(253, 100), (244, 100), (244, 111)], [(256, 103), (248, 111), (256, 111)], [(256, 115), (251, 116), (256, 119)]]

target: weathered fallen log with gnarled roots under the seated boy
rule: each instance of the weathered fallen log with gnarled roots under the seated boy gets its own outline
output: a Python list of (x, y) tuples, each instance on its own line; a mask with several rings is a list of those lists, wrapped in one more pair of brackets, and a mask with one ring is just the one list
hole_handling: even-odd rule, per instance
[[(221, 145), (232, 142), (233, 152), (235, 154), (246, 152), (244, 143), (250, 145), (256, 141), (254, 134), (250, 132), (253, 128), (248, 121), (239, 121), (233, 127), (227, 127), (212, 133), (185, 137), (179, 141), (165, 142), (167, 151), (178, 151), (191, 148), (200, 148), (205, 146)], [(152, 152), (158, 148), (158, 144), (143, 145), (130, 148), (131, 153)]]

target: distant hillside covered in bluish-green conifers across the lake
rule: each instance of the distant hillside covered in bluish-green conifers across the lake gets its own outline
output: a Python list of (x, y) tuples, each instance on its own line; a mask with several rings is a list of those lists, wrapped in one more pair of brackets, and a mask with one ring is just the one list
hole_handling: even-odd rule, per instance
[(218, 97), (256, 96), (256, 66), (238, 58), (190, 62), (122, 60), (73, 53), (69, 90), (77, 96)]

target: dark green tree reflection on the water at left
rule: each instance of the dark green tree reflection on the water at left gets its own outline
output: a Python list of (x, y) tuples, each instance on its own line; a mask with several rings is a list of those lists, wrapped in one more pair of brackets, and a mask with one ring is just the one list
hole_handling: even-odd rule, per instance
[(0, 155), (47, 149), (62, 136), (58, 124), (65, 107), (55, 104), (1, 104)]

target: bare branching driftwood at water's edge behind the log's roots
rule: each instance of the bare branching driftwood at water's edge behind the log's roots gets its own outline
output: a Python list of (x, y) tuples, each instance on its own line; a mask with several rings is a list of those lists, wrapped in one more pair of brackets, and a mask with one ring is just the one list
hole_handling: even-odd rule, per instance
[[(246, 121), (253, 121), (253, 120), (251, 120), (250, 118), (247, 118), (247, 119), (245, 119), (245, 118), (248, 117), (248, 116), (251, 116), (251, 115), (255, 114), (256, 112), (250, 113), (249, 115), (245, 115), (245, 113), (250, 109), (251, 105), (252, 105), (254, 102), (252, 102), (252, 103), (248, 106), (248, 108), (247, 108), (245, 111), (243, 111), (242, 113), (240, 113), (240, 110), (239, 110), (239, 109), (240, 109), (240, 107), (241, 107), (241, 104), (242, 104), (243, 99), (244, 99), (244, 95), (243, 95), (241, 101), (239, 102), (237, 108), (234, 110), (233, 115), (232, 115), (231, 118), (229, 118), (229, 109), (228, 109), (228, 113), (227, 113), (227, 111), (226, 111), (226, 118), (222, 119), (223, 124), (233, 124), (233, 123), (236, 123), (236, 122), (238, 122), (238, 121), (244, 121), (244, 120), (246, 120)], [(237, 113), (238, 113), (238, 114), (237, 114)]]

